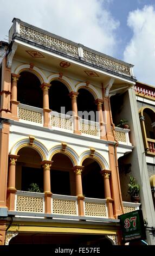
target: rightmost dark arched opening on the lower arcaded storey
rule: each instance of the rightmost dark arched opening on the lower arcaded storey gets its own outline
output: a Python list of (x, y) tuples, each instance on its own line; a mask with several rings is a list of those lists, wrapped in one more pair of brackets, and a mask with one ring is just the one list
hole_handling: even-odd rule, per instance
[(101, 168), (98, 162), (88, 157), (82, 163), (82, 190), (85, 197), (105, 198), (104, 179), (100, 174)]

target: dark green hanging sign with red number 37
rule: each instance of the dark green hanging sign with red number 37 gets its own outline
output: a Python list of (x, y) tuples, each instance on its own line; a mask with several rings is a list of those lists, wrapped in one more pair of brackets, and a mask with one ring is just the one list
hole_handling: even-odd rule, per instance
[(146, 239), (143, 213), (141, 210), (119, 216), (124, 242)]

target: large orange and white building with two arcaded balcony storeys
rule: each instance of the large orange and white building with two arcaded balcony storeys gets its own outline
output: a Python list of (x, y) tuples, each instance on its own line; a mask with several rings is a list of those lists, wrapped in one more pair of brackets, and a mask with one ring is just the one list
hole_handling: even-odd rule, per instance
[[(133, 65), (18, 19), (9, 39), (1, 64), (0, 243), (120, 244), (118, 215), (140, 205), (126, 200), (128, 180), (118, 169), (128, 156), (140, 176)], [(129, 114), (131, 142), (130, 130), (114, 127), (111, 104), (115, 124)], [(79, 111), (92, 111), (94, 121)], [(38, 191), (28, 191), (32, 183)], [(148, 219), (148, 197), (141, 199)]]

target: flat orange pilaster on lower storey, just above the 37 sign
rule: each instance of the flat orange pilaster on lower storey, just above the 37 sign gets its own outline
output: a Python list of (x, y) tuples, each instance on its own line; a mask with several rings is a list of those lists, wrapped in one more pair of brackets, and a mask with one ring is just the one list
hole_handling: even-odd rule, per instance
[(118, 215), (122, 214), (120, 198), (119, 198), (119, 188), (118, 188), (118, 178), (117, 178), (117, 170), (115, 163), (115, 155), (114, 155), (114, 145), (109, 144), (109, 163), (111, 168), (111, 192), (112, 198), (114, 200), (114, 217), (117, 218)]

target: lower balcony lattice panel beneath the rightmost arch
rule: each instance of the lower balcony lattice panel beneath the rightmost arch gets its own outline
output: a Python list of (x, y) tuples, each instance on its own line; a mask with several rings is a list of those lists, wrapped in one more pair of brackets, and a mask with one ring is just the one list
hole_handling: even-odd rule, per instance
[(85, 202), (85, 215), (107, 217), (106, 205), (103, 203)]

